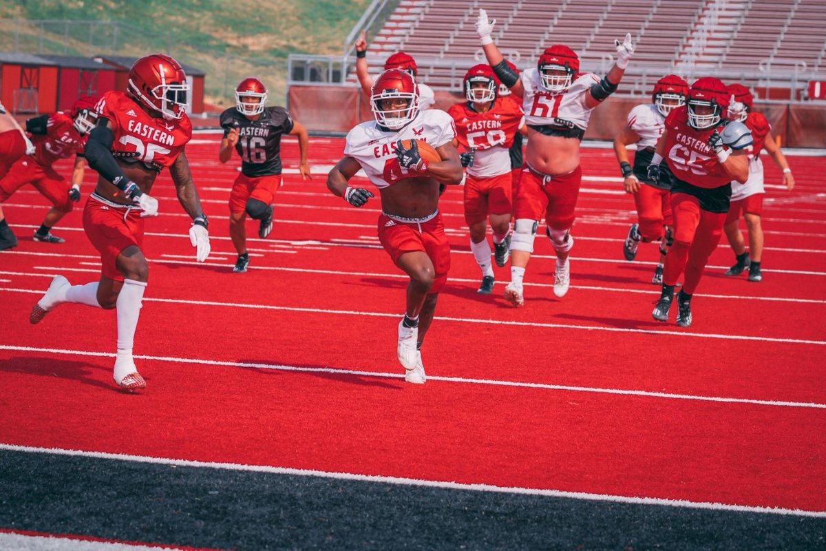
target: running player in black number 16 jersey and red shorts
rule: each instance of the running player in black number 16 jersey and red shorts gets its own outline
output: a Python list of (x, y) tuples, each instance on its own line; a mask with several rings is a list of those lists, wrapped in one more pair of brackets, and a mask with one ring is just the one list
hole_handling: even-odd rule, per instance
[(283, 107), (265, 107), (267, 88), (258, 78), (244, 78), (235, 88), (235, 107), (221, 113), (224, 137), (218, 159), (225, 163), (235, 149), (241, 172), (230, 192), (230, 238), (238, 252), (233, 272), (246, 272), (249, 264), (244, 221), (259, 221), (259, 237), (273, 230), (273, 197), (281, 187), (281, 136), (297, 135), (301, 179), (311, 178), (307, 164), (306, 128)]

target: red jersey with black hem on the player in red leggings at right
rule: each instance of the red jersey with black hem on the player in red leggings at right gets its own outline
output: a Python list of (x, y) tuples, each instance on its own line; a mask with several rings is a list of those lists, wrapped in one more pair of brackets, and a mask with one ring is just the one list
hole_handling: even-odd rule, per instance
[[(724, 121), (721, 121), (724, 122)], [(731, 182), (708, 141), (724, 124), (696, 130), (688, 125), (686, 106), (676, 107), (666, 117), (666, 150), (663, 157), (676, 178), (698, 188), (719, 188)]]

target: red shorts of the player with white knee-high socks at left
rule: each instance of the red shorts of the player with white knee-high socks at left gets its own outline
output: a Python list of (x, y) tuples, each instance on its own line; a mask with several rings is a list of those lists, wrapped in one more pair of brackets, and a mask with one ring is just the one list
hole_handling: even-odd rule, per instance
[(144, 219), (140, 209), (115, 207), (90, 196), (83, 208), (83, 230), (101, 254), (101, 273), (107, 278), (123, 281), (117, 269), (117, 255), (131, 245), (141, 247), (144, 241)]

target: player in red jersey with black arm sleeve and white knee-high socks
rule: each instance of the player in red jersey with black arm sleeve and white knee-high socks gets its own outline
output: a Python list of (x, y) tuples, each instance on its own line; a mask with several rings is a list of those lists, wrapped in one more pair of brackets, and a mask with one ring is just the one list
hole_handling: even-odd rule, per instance
[(169, 55), (151, 54), (135, 61), (127, 92), (104, 93), (97, 102), (97, 126), (89, 135), (86, 159), (100, 175), (83, 209), (83, 230), (101, 255), (100, 281), (70, 285), (55, 276), (45, 295), (31, 308), (29, 321), (37, 323), (64, 302), (116, 309), (117, 353), (112, 377), (118, 387), (134, 391), (146, 382), (132, 356), (135, 329), (143, 301), (149, 265), (141, 246), (144, 219), (158, 215), (152, 184), (169, 169), (178, 201), (192, 217), (189, 240), (196, 260), (210, 251), (207, 216), (184, 146), (192, 137), (187, 75)]

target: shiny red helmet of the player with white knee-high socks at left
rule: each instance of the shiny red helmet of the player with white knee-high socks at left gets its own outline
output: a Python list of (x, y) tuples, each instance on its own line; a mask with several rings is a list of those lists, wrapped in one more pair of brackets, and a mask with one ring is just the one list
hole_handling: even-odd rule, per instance
[(179, 119), (189, 107), (187, 74), (164, 54), (150, 54), (129, 70), (129, 93), (164, 119)]

